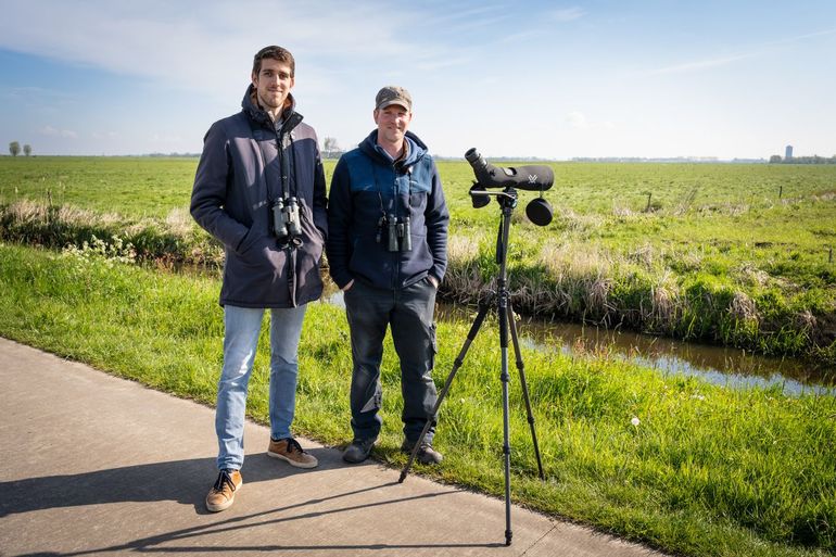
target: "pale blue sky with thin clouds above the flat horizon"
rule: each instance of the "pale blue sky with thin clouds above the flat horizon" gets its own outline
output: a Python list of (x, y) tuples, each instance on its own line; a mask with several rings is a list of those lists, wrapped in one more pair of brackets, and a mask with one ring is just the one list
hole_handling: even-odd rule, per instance
[(0, 0), (0, 141), (200, 152), (252, 55), (296, 58), (297, 110), (343, 148), (409, 89), (445, 156), (836, 154), (836, 2)]

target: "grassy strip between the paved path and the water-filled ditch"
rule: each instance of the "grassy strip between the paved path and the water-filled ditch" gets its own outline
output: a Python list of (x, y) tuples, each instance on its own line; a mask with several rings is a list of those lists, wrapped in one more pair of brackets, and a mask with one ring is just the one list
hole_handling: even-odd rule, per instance
[[(223, 338), (217, 281), (154, 273), (94, 251), (0, 245), (0, 334), (213, 404)], [(436, 382), (469, 325), (440, 326)], [(325, 443), (345, 442), (351, 351), (341, 311), (312, 304), (303, 339), (295, 428)], [(256, 356), (249, 406), (262, 422), (267, 344), (263, 339)], [(497, 345), (495, 327), (483, 328), (442, 407), (435, 444), (447, 458), (439, 470), (420, 468), (495, 495), (503, 490)], [(833, 397), (730, 390), (606, 357), (524, 357), (547, 480), (536, 478), (514, 380), (515, 501), (684, 555), (836, 550)], [(397, 375), (390, 345), (378, 454), (395, 466), (404, 461)]]

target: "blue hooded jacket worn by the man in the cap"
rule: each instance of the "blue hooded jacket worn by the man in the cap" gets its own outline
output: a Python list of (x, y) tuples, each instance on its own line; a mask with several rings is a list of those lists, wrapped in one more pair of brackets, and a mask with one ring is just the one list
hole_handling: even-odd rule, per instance
[[(447, 269), (449, 213), (427, 145), (406, 132), (407, 155), (393, 162), (373, 130), (337, 163), (328, 210), (328, 264), (333, 281), (352, 279), (401, 289), (428, 275), (439, 283)], [(409, 216), (410, 251), (391, 252), (381, 217)]]

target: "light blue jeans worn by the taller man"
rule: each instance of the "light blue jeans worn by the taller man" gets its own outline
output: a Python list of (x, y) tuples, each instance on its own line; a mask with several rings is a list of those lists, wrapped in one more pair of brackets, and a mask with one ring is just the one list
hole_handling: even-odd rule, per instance
[[(270, 309), (270, 436), (291, 436), (296, 405), (299, 339), (306, 305)], [(244, 464), (246, 391), (264, 317), (263, 308), (224, 306), (224, 368), (218, 381), (215, 432), (219, 470)]]

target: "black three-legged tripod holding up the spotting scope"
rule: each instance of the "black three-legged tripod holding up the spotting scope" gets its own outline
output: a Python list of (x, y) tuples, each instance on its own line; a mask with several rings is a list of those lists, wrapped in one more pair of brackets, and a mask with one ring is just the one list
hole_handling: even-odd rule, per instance
[[(505, 545), (511, 544), (511, 537), (514, 533), (511, 532), (511, 486), (510, 486), (510, 442), (509, 442), (509, 420), (508, 420), (508, 381), (510, 380), (510, 377), (508, 375), (508, 331), (510, 330), (510, 337), (511, 342), (514, 344), (514, 352), (517, 356), (517, 369), (520, 374), (520, 384), (522, 385), (522, 397), (525, 402), (525, 412), (528, 413), (528, 421), (529, 427), (531, 428), (531, 438), (534, 442), (534, 454), (537, 457), (537, 468), (540, 470), (540, 478), (541, 480), (545, 479), (545, 476), (543, 474), (543, 463), (540, 458), (540, 446), (537, 445), (537, 433), (534, 429), (534, 417), (531, 413), (531, 401), (529, 398), (529, 388), (525, 382), (525, 369), (524, 364), (522, 363), (522, 356), (520, 354), (520, 344), (519, 339), (517, 337), (517, 324), (514, 319), (514, 308), (511, 306), (510, 301), (510, 292), (508, 291), (508, 274), (507, 274), (507, 253), (508, 253), (508, 236), (510, 233), (510, 226), (511, 226), (511, 214), (514, 213), (514, 208), (517, 206), (517, 191), (511, 188), (507, 187), (501, 192), (489, 192), (485, 190), (481, 191), (473, 191), (470, 192), (471, 197), (476, 200), (476, 195), (484, 197), (484, 195), (496, 195), (496, 200), (498, 201), (499, 205), (502, 206), (502, 216), (499, 219), (499, 231), (496, 239), (496, 263), (499, 265), (499, 276), (496, 281), (496, 291), (491, 291), (487, 293), (486, 296), (483, 296), (482, 300), (479, 302), (479, 313), (476, 316), (476, 319), (473, 320), (473, 325), (470, 327), (470, 331), (467, 334), (467, 340), (465, 341), (465, 344), (461, 346), (461, 351), (458, 354), (458, 357), (454, 360), (453, 369), (451, 370), (449, 375), (447, 376), (447, 380), (444, 383), (444, 388), (442, 389), (441, 393), (439, 394), (439, 398), (435, 402), (435, 406), (432, 409), (432, 415), (427, 420), (427, 423), (423, 427), (423, 430), (421, 431), (421, 436), (418, 438), (418, 441), (415, 443), (415, 447), (413, 448), (411, 454), (409, 455), (409, 459), (406, 463), (406, 466), (404, 466), (404, 469), (401, 471), (401, 478), (397, 480), (398, 483), (403, 483), (403, 481), (406, 479), (406, 474), (409, 472), (409, 469), (413, 466), (413, 461), (415, 460), (416, 455), (418, 454), (418, 451), (420, 448), (421, 442), (423, 441), (425, 435), (427, 435), (427, 431), (430, 429), (431, 425), (435, 421), (435, 418), (439, 415), (439, 408), (441, 408), (441, 404), (444, 402), (444, 398), (447, 395), (447, 392), (449, 391), (451, 384), (453, 384), (453, 379), (456, 377), (456, 372), (461, 367), (461, 365), (465, 363), (465, 357), (467, 356), (467, 352), (470, 349), (471, 343), (476, 339), (477, 333), (479, 332), (479, 329), (482, 327), (482, 322), (484, 321), (484, 318), (487, 315), (487, 312), (491, 309), (492, 305), (495, 304), (496, 312), (498, 314), (499, 319), (499, 347), (502, 351), (502, 374), (499, 376), (499, 379), (503, 384), (503, 456), (505, 460)], [(486, 199), (486, 198), (483, 198)], [(476, 205), (476, 201), (474, 201)]]

